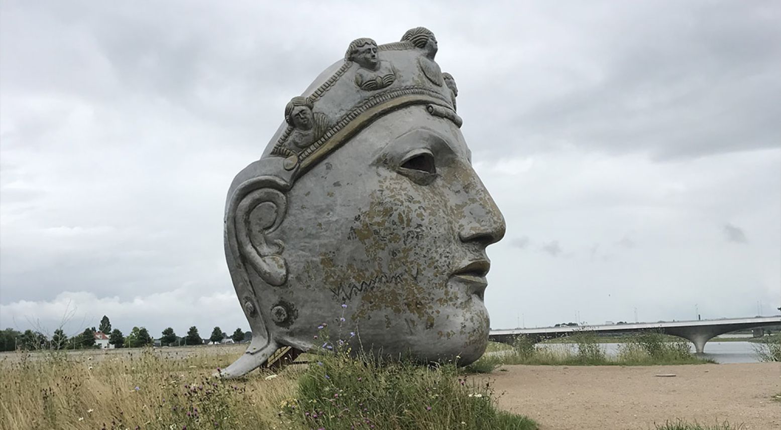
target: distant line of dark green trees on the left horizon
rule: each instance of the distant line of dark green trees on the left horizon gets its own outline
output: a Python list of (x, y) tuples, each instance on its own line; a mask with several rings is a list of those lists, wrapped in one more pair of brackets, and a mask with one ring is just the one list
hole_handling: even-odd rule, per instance
[[(15, 329), (5, 329), (0, 331), (0, 351), (13, 350), (82, 350), (97, 348), (95, 343), (95, 333), (102, 332), (109, 337), (109, 343), (115, 348), (137, 348), (141, 346), (155, 345), (155, 339), (150, 336), (145, 327), (134, 327), (127, 336), (119, 329), (112, 329), (109, 317), (103, 315), (98, 329), (87, 327), (84, 332), (75, 336), (67, 336), (62, 328), (56, 329), (52, 336), (46, 336), (41, 330), (27, 329), (20, 332)], [(204, 343), (221, 343), (223, 339), (232, 339), (239, 343), (252, 338), (251, 332), (244, 332), (236, 329), (233, 335), (228, 336), (222, 329), (215, 327), (209, 339), (201, 339), (198, 334), (198, 328), (194, 325), (187, 330), (184, 337), (177, 336), (173, 328), (168, 327), (163, 330), (159, 338), (160, 346), (189, 346), (203, 345)]]

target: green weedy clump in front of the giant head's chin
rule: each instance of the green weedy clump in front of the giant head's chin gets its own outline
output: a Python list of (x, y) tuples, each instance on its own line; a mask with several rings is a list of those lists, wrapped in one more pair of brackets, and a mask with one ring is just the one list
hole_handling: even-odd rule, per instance
[(307, 428), (537, 428), (497, 410), (490, 383), (477, 385), (453, 363), (422, 366), (349, 352), (337, 348), (309, 364), (283, 413)]

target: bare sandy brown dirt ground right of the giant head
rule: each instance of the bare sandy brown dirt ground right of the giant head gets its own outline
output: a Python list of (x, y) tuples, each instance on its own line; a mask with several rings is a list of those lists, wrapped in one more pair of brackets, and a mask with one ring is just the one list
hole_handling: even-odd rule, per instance
[[(676, 376), (657, 376), (657, 375)], [(647, 430), (678, 418), (781, 429), (781, 363), (503, 366), (488, 375), (502, 409), (540, 430)]]

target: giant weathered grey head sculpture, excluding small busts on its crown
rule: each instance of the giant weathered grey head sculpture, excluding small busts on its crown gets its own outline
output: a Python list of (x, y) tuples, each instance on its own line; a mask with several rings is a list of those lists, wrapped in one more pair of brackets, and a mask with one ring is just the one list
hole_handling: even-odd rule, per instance
[(226, 255), (253, 338), (223, 375), (280, 346), (319, 348), (318, 326), (342, 315), (343, 332), (375, 354), (463, 364), (483, 354), (486, 247), (505, 222), (472, 169), (451, 91), (421, 69), (426, 54), (380, 45), (395, 77), (376, 91), (338, 62), (305, 92), (323, 136), (294, 150), (284, 124), (234, 179)]

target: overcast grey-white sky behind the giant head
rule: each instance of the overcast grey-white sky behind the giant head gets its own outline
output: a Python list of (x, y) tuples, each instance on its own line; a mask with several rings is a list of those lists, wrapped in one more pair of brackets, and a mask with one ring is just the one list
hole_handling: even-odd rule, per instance
[(425, 26), (505, 214), (491, 325), (777, 314), (781, 2), (0, 3), (0, 328), (248, 329), (230, 181)]

